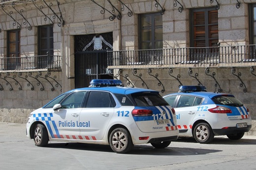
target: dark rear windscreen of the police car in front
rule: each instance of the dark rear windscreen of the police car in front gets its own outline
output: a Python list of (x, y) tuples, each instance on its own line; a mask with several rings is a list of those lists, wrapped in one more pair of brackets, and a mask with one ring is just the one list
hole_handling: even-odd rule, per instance
[(159, 93), (134, 93), (131, 94), (137, 106), (168, 106), (169, 104)]

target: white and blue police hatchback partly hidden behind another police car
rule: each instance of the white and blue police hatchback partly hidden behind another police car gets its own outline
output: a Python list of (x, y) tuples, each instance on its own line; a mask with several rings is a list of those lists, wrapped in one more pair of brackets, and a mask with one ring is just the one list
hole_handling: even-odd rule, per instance
[(183, 85), (178, 93), (163, 98), (175, 109), (180, 137), (193, 137), (199, 143), (212, 142), (218, 135), (239, 140), (252, 127), (249, 109), (231, 94)]

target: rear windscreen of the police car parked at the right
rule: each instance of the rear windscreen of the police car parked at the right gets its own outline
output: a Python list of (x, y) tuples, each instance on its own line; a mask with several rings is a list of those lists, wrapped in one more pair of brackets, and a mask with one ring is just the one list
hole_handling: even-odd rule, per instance
[(244, 106), (242, 102), (240, 102), (238, 99), (236, 99), (233, 96), (215, 96), (212, 98), (215, 104), (217, 105), (227, 105), (227, 106), (235, 106), (235, 107), (241, 107)]

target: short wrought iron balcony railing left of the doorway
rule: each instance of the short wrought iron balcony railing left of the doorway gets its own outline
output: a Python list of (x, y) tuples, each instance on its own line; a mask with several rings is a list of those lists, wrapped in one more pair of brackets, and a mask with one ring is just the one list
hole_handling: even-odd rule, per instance
[(0, 71), (31, 71), (61, 68), (61, 56), (45, 55), (33, 57), (2, 57)]

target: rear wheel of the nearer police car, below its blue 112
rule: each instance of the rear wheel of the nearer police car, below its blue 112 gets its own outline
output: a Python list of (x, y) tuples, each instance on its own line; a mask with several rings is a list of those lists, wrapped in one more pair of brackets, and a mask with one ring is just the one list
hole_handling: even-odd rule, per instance
[(133, 147), (129, 132), (124, 128), (114, 129), (109, 136), (111, 149), (116, 153), (127, 153)]

